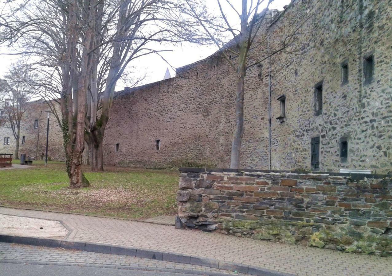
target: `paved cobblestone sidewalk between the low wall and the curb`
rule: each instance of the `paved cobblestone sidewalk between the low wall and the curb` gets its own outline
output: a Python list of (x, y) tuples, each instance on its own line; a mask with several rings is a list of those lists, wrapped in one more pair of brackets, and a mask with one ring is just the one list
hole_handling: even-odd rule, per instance
[(297, 275), (392, 275), (392, 258), (256, 241), (127, 220), (0, 207), (0, 213), (61, 220), (83, 240), (182, 253)]

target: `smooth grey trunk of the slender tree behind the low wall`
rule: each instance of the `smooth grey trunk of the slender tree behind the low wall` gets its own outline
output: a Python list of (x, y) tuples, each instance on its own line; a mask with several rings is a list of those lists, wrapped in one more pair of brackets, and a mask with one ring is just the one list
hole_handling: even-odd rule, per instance
[(244, 134), (244, 117), (243, 117), (243, 107), (244, 107), (244, 84), (245, 84), (245, 74), (241, 74), (237, 82), (236, 91), (236, 129), (233, 135), (233, 142), (231, 146), (231, 162), (230, 168), (238, 169), (241, 164), (241, 142)]

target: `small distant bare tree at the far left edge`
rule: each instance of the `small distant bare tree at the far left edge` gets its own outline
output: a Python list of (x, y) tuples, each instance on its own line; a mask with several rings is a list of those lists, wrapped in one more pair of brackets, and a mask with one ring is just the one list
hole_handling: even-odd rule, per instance
[(0, 81), (0, 125), (10, 126), (16, 141), (15, 159), (19, 159), (20, 123), (34, 97), (35, 75), (28, 65), (18, 61)]

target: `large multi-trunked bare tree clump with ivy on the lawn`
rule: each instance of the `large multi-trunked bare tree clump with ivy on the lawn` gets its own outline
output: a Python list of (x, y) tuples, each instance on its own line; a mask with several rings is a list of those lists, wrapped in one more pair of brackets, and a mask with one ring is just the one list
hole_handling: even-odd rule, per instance
[[(61, 106), (61, 117), (57, 119), (63, 130), (70, 187), (89, 185), (82, 173), (85, 141), (90, 144), (93, 170), (103, 170), (103, 135), (116, 83), (127, 65), (141, 56), (165, 51), (157, 47), (160, 43), (204, 41), (197, 21), (190, 22), (188, 14), (182, 13), (184, 3), (183, 0), (8, 2), (5, 10), (9, 12), (0, 16), (0, 42), (16, 45), (23, 49), (21, 54), (36, 57), (36, 65), (45, 72), (45, 85), (55, 85), (45, 91), (45, 99), (53, 112), (53, 104)], [(60, 94), (58, 99), (56, 93)]]

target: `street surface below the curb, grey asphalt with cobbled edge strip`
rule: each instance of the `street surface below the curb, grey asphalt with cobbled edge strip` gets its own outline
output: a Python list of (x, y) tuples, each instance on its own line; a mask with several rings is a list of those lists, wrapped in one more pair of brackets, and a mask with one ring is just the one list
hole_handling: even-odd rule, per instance
[(0, 276), (230, 274), (236, 273), (131, 256), (0, 242)]

